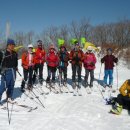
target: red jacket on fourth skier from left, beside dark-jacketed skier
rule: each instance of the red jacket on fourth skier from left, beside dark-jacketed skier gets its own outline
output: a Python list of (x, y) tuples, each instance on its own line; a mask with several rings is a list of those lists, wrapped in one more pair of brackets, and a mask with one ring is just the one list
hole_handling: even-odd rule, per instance
[(49, 52), (46, 57), (46, 63), (50, 67), (57, 67), (59, 65), (59, 57), (56, 52)]

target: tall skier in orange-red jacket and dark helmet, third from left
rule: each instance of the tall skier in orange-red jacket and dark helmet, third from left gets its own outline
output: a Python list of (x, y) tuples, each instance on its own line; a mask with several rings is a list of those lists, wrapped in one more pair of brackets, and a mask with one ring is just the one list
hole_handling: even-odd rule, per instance
[(37, 73), (39, 71), (39, 82), (43, 83), (43, 66), (45, 62), (45, 50), (41, 40), (37, 41), (37, 49), (35, 50), (35, 67), (34, 67), (34, 75), (33, 75), (33, 83), (35, 83)]

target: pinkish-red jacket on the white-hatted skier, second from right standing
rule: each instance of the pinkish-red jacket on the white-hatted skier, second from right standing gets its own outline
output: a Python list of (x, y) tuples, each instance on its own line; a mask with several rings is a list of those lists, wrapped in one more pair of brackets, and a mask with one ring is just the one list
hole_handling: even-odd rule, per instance
[(84, 55), (84, 68), (89, 70), (95, 69), (96, 57), (94, 53), (85, 53)]

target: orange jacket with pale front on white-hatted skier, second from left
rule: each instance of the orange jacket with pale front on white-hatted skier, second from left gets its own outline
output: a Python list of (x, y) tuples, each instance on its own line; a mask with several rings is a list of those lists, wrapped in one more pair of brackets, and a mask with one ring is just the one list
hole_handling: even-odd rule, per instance
[(35, 62), (34, 62), (34, 54), (33, 53), (28, 53), (24, 52), (22, 54), (22, 66), (24, 69), (28, 69), (30, 66), (34, 67)]

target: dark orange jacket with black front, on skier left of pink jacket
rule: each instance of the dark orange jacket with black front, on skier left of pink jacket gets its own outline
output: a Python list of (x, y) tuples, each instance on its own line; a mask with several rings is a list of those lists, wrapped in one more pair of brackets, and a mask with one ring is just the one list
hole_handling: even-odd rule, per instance
[(83, 51), (82, 50), (75, 51), (75, 49), (73, 49), (70, 52), (70, 55), (69, 55), (69, 59), (71, 60), (71, 63), (72, 64), (76, 64), (77, 63), (77, 58), (78, 58), (78, 64), (80, 66), (82, 66), (82, 62), (84, 60), (84, 53), (83, 53)]

